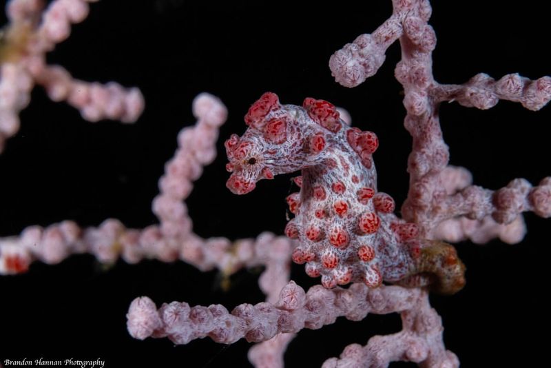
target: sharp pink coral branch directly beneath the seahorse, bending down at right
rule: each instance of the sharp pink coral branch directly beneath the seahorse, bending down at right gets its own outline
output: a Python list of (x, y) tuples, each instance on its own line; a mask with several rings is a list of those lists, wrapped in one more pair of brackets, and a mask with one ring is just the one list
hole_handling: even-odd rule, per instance
[[(173, 343), (187, 344), (209, 336), (218, 343), (230, 344), (240, 338), (258, 342), (278, 333), (320, 329), (335, 323), (340, 316), (362, 320), (368, 313), (397, 311), (402, 312), (404, 330), (372, 338), (362, 353), (367, 359), (355, 354), (354, 367), (386, 367), (395, 360), (427, 365), (448, 362), (450, 367), (458, 366), (455, 355), (444, 349), (441, 319), (430, 308), (428, 294), (422, 289), (397, 286), (370, 289), (363, 284), (353, 284), (349, 289), (326, 289), (316, 285), (305, 293), (291, 281), (281, 290), (276, 303), (242, 304), (231, 313), (222, 305), (189, 307), (178, 302), (165, 303), (156, 309), (151, 299), (141, 297), (129, 307), (127, 326), (129, 333), (139, 339), (168, 337)], [(350, 358), (352, 349), (345, 350), (346, 358)], [(337, 361), (329, 360), (324, 367), (337, 367)]]

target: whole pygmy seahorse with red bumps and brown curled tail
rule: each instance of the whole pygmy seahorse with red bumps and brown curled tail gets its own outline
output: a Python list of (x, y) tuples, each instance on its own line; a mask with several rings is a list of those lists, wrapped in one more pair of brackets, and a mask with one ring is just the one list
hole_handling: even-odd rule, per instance
[(245, 116), (249, 129), (225, 143), (232, 172), (227, 187), (246, 194), (262, 178), (302, 170), (300, 192), (287, 197), (291, 213), (285, 234), (298, 239), (295, 263), (322, 285), (383, 281), (433, 285), (445, 294), (464, 285), (464, 265), (455, 249), (418, 238), (417, 225), (397, 218), (395, 203), (377, 192), (373, 132), (348, 127), (335, 106), (307, 98), (302, 107), (280, 105), (267, 92)]

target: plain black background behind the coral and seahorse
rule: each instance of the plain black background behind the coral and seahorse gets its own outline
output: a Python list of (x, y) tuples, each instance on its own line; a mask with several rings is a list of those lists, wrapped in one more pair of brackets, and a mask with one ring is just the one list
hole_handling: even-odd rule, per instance
[[(21, 130), (0, 156), (0, 236), (26, 225), (73, 219), (98, 225), (119, 218), (129, 227), (156, 223), (150, 203), (163, 165), (176, 148), (181, 127), (194, 123), (191, 101), (199, 92), (220, 96), (229, 108), (218, 147), (242, 134), (242, 116), (262, 92), (282, 103), (306, 96), (349, 110), (353, 124), (380, 138), (375, 154), (380, 190), (397, 203), (405, 198), (410, 137), (402, 127), (401, 86), (393, 78), (399, 47), (387, 52), (380, 71), (360, 87), (337, 85), (327, 67), (331, 54), (368, 33), (391, 14), (391, 1), (338, 1), (330, 5), (231, 1), (101, 1), (70, 39), (48, 56), (76, 78), (137, 85), (146, 108), (135, 125), (91, 124), (41, 88), (21, 112)], [(484, 5), (481, 5), (484, 3)], [(536, 79), (551, 73), (548, 13), (540, 1), (433, 1), (437, 32), (434, 73), (441, 83), (462, 83), (478, 72), (496, 78), (519, 72)], [(488, 111), (455, 103), (441, 107), (451, 163), (468, 167), (475, 183), (495, 189), (512, 178), (537, 183), (551, 173), (548, 124), (551, 110), (529, 112), (500, 102)], [(253, 237), (282, 233), (289, 176), (261, 182), (247, 196), (225, 188), (222, 154), (187, 200), (200, 236)], [(468, 283), (455, 296), (431, 296), (444, 320), (448, 349), (462, 367), (537, 367), (548, 359), (549, 223), (526, 215), (528, 235), (519, 245), (463, 242), (458, 252)], [(130, 301), (147, 295), (158, 305), (263, 300), (259, 270), (232, 278), (222, 292), (216, 272), (201, 273), (182, 262), (119, 261), (98, 265), (73, 256), (60, 265), (33, 264), (28, 274), (0, 277), (0, 358), (101, 358), (106, 367), (247, 367), (249, 344), (225, 348), (209, 339), (186, 346), (169, 340), (138, 341), (125, 327)], [(293, 265), (305, 288), (316, 280)], [(289, 346), (287, 367), (319, 367), (350, 343), (400, 328), (399, 317), (343, 318), (318, 331), (302, 331)], [(410, 366), (394, 363), (393, 367)]]

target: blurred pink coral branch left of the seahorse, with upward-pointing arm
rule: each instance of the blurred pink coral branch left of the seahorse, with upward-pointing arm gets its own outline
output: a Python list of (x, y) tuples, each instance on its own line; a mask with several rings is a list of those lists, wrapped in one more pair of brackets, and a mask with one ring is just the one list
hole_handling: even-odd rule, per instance
[[(214, 159), (218, 127), (227, 112), (220, 100), (201, 94), (194, 101), (194, 113), (198, 123), (180, 133), (180, 147), (175, 159), (167, 164), (167, 174), (160, 180), (161, 194), (152, 206), (160, 225), (127, 229), (120, 221), (108, 219), (99, 227), (87, 229), (81, 229), (73, 221), (45, 229), (30, 226), (21, 236), (0, 239), (0, 273), (25, 272), (33, 260), (54, 264), (79, 253), (94, 254), (103, 263), (113, 263), (119, 256), (128, 263), (143, 258), (169, 262), (180, 257), (202, 270), (218, 267), (229, 273), (254, 263), (257, 249), (272, 241), (277, 243), (273, 236), (260, 236), (256, 242), (245, 239), (232, 245), (225, 238), (205, 240), (191, 233), (191, 220), (182, 201), (191, 192), (191, 181), (200, 176), (202, 165)], [(180, 187), (163, 185), (171, 181)]]

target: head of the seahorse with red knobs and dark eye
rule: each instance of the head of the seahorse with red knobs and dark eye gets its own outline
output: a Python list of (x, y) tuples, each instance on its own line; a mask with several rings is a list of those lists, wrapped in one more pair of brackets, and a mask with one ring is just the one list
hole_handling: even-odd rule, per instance
[[(281, 105), (275, 93), (266, 92), (253, 103), (245, 115), (245, 134), (232, 134), (225, 142), (231, 192), (249, 193), (261, 179), (295, 172), (319, 159), (331, 131), (313, 120), (312, 101), (318, 100), (306, 99), (304, 108)], [(336, 119), (340, 127), (338, 114)]]

